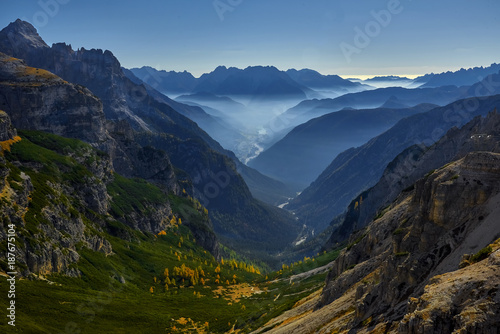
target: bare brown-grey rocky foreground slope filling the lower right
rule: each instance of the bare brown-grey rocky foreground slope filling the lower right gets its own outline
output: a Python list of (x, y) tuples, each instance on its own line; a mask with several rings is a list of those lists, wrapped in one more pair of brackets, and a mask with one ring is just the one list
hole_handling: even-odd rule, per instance
[(352, 235), (321, 295), (268, 332), (498, 331), (499, 201), (500, 154), (440, 168)]

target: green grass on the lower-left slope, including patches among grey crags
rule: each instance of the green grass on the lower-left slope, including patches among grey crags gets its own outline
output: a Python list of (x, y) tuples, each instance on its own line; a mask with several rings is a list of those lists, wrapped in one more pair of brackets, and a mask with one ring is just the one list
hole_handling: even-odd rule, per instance
[[(54, 195), (46, 186), (46, 181), (78, 183), (82, 182), (82, 176), (88, 175), (84, 166), (64, 152), (75, 154), (89, 147), (78, 141), (41, 133), (22, 135), (23, 140), (12, 147), (12, 153), (7, 157), (44, 165), (38, 172), (20, 167), (31, 176), (35, 187), (29, 209), (31, 215), (28, 213), (25, 218), (26, 227), (36, 231), (38, 224), (47, 222), (37, 219), (41, 215), (35, 213), (47, 204), (47, 195)], [(12, 163), (9, 162), (8, 167), (11, 177), (19, 175), (20, 170)], [(117, 218), (131, 210), (144, 211), (144, 201), (155, 203), (166, 200), (158, 197), (159, 189), (153, 185), (119, 176), (108, 185), (108, 191), (114, 195), (111, 211)], [(70, 212), (82, 210), (72, 198), (58, 200), (66, 201)], [(168, 200), (177, 217), (182, 217), (186, 206), (191, 205), (190, 219), (198, 215), (199, 222), (203, 221), (206, 213), (200, 210), (199, 203), (173, 195)], [(110, 241), (114, 254), (106, 256), (80, 247), (78, 252), (81, 258), (75, 266), (81, 271), (81, 277), (53, 274), (47, 277), (48, 281), (18, 279), (16, 327), (7, 326), (6, 321), (2, 321), (0, 332), (223, 333), (233, 327), (248, 332), (250, 328), (259, 327), (291, 308), (311, 289), (321, 287), (325, 274), (298, 283), (279, 278), (320, 266), (336, 256), (335, 253), (323, 254), (315, 261), (306, 260), (296, 263), (293, 268), (265, 276), (242, 262), (238, 262), (239, 268), (232, 261), (217, 263), (212, 255), (195, 243), (190, 230), (183, 224), (165, 231), (164, 235), (151, 235), (131, 230), (113, 217), (102, 219), (107, 223), (104, 231), (91, 229), (90, 220), (87, 224), (92, 233), (100, 233)], [(18, 231), (21, 233), (21, 229)], [(110, 231), (113, 235), (128, 235), (130, 241), (115, 237), (109, 234)], [(120, 231), (124, 233), (118, 233)], [(29, 237), (31, 231), (26, 229), (22, 233)], [(30, 242), (36, 240), (32, 238)], [(193, 286), (188, 280), (182, 283), (181, 277), (174, 277), (174, 267), (182, 264), (193, 270), (203, 270), (205, 284), (199, 280)], [(216, 273), (218, 266), (221, 271)], [(168, 290), (164, 286), (165, 268), (169, 269), (169, 279), (176, 280), (176, 284), (170, 284)], [(217, 275), (220, 275), (220, 282), (215, 281)], [(226, 284), (234, 279), (234, 275), (235, 281)], [(2, 278), (0, 282), (0, 295), (6, 296), (6, 280)], [(231, 289), (242, 289), (245, 284), (263, 292), (238, 301), (232, 300)], [(216, 292), (218, 290), (222, 296)], [(0, 309), (5, 310), (6, 307), (7, 298), (0, 298)]]

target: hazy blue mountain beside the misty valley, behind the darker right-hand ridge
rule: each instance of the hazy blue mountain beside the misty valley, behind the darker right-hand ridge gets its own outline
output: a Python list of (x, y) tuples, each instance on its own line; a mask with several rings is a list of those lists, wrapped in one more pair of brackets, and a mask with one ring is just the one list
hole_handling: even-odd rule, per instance
[(341, 110), (297, 126), (248, 165), (302, 190), (314, 181), (339, 153), (358, 147), (391, 128), (397, 121), (432, 109)]

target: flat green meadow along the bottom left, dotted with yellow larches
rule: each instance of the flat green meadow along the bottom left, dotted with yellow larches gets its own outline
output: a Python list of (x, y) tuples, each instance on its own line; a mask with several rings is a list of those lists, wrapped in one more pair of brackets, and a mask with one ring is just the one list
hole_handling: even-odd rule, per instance
[[(184, 326), (179, 323), (178, 320), (184, 317), (198, 325), (199, 329), (193, 333), (206, 329), (206, 323), (209, 332), (213, 333), (229, 331), (233, 326), (248, 332), (290, 309), (311, 290), (320, 288), (325, 279), (325, 274), (321, 274), (297, 284), (290, 284), (288, 280), (270, 283), (261, 275), (232, 270), (225, 265), (221, 272), (223, 280), (237, 275), (238, 283), (249, 282), (265, 291), (239, 302), (226, 300), (214, 292), (219, 287), (213, 283), (217, 263), (191, 241), (186, 241), (180, 249), (171, 246), (179, 236), (149, 236), (140, 243), (112, 239), (116, 253), (113, 256), (106, 258), (104, 254), (88, 250), (80, 253), (82, 259), (78, 268), (83, 273), (81, 278), (48, 277), (55, 284), (18, 281), (16, 329), (26, 333), (78, 332), (74, 330), (81, 330), (81, 333), (182, 333), (193, 327), (190, 323)], [(194, 251), (191, 253), (188, 249)], [(187, 260), (178, 261), (170, 250), (174, 254), (182, 252)], [(204, 265), (205, 259), (208, 265)], [(162, 282), (164, 268), (172, 269), (181, 263), (188, 267), (202, 263), (212, 282), (205, 286), (170, 287), (165, 291)], [(116, 278), (119, 276), (125, 278), (125, 284), (118, 282)], [(227, 288), (226, 284), (222, 286)], [(151, 287), (154, 287), (153, 293), (149, 290)], [(1, 290), (5, 296), (4, 284)], [(0, 307), (7, 307), (4, 299)], [(6, 326), (1, 324), (1, 328)]]

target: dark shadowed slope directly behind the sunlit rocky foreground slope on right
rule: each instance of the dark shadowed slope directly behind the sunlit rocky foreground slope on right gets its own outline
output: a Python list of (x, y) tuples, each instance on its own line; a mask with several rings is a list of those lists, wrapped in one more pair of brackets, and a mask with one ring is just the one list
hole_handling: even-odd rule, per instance
[(475, 117), (461, 129), (452, 128), (429, 148), (415, 145), (399, 154), (380, 181), (349, 204), (330, 244), (342, 242), (355, 230), (365, 227), (377, 211), (382, 211), (427, 173), (479, 150), (500, 153), (500, 115), (496, 110), (486, 117)]

